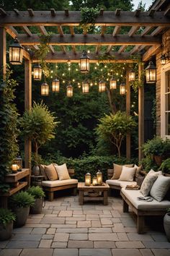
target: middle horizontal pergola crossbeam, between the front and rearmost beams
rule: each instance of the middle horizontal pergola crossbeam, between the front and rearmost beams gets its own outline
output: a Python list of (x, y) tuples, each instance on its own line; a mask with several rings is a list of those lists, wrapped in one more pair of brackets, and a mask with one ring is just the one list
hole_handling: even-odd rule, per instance
[[(22, 45), (34, 45), (40, 44), (40, 38), (38, 35), (34, 34), (31, 38), (28, 38), (27, 35), (19, 34), (18, 38)], [(67, 46), (67, 45), (75, 45), (80, 46), (82, 44), (97, 46), (98, 44), (101, 46), (120, 46), (120, 45), (153, 45), (161, 43), (161, 38), (153, 37), (151, 35), (146, 35), (145, 37), (141, 37), (140, 35), (134, 35), (133, 37), (129, 37), (128, 35), (117, 35), (117, 37), (113, 37), (112, 35), (105, 34), (104, 37), (101, 35), (93, 35), (88, 34), (86, 37), (81, 34), (76, 34), (74, 36), (71, 35), (52, 35), (49, 44), (55, 46)]]

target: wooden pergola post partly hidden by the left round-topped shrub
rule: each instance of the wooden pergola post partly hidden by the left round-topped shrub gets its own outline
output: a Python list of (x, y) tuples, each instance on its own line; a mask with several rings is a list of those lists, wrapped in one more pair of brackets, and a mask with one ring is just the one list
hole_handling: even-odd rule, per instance
[[(32, 66), (30, 59), (24, 60), (24, 109), (32, 106)], [(24, 141), (24, 168), (31, 169), (31, 140)]]

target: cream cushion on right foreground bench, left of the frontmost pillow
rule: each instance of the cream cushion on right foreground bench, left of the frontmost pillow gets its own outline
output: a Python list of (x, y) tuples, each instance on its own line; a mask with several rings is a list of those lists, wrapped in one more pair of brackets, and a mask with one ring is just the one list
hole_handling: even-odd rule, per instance
[(153, 171), (152, 169), (148, 172), (140, 188), (140, 192), (143, 194), (144, 197), (147, 197), (149, 195), (153, 183), (156, 181), (158, 175), (160, 174), (162, 174), (161, 171)]

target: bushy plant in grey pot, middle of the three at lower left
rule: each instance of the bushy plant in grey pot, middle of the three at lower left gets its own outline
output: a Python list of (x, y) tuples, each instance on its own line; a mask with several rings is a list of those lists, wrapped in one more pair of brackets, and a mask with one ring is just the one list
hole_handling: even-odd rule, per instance
[(18, 192), (11, 197), (12, 211), (16, 214), (14, 226), (23, 226), (30, 212), (30, 206), (34, 205), (35, 199), (28, 192)]

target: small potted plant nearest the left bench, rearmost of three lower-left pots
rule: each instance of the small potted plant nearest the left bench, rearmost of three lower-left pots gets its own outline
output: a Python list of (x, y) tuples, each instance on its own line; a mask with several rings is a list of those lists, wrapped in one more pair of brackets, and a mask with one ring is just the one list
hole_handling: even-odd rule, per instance
[(27, 192), (35, 198), (35, 204), (30, 207), (30, 213), (38, 214), (42, 212), (42, 204), (45, 197), (45, 192), (39, 186), (30, 187)]

